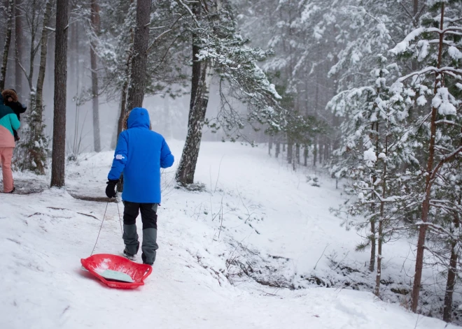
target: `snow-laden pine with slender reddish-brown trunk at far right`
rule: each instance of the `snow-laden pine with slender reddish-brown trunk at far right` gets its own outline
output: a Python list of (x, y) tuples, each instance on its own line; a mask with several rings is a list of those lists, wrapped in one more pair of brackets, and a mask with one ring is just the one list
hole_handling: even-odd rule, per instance
[[(397, 95), (404, 98), (415, 95), (416, 105), (423, 110), (414, 124), (414, 136), (419, 138), (416, 145), (421, 147), (416, 153), (423, 159), (415, 175), (416, 184), (420, 186), (416, 190), (421, 191), (417, 200), (423, 201), (420, 220), (416, 222), (419, 238), (411, 300), (414, 312), (419, 305), (424, 251), (428, 249), (427, 231), (435, 227), (434, 212), (430, 209), (440, 202), (435, 200), (438, 178), (444, 166), (458, 159), (462, 151), (458, 140), (452, 142), (451, 139), (460, 132), (460, 89), (457, 84), (460, 85), (458, 81), (462, 80), (459, 69), (462, 53), (458, 45), (461, 4), (458, 1), (430, 1), (429, 4), (430, 13), (422, 17), (422, 26), (410, 32), (391, 50), (393, 54), (410, 56), (426, 64), (421, 70), (402, 76), (395, 83)], [(433, 17), (435, 13), (437, 16)], [(429, 96), (433, 98), (428, 109)]]

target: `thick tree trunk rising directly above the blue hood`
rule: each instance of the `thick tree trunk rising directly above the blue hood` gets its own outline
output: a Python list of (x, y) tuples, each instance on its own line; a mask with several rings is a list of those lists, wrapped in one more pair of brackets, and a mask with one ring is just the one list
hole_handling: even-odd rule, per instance
[(134, 33), (132, 73), (128, 87), (127, 108), (141, 108), (143, 106), (144, 91), (146, 89), (146, 62), (148, 61), (149, 16), (151, 14), (151, 0), (137, 1), (137, 27)]

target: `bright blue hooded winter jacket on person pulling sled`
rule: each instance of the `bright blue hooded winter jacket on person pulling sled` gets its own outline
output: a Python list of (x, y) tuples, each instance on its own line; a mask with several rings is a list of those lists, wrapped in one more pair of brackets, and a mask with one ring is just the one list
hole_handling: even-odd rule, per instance
[(146, 108), (134, 108), (117, 142), (108, 179), (118, 180), (123, 172), (124, 201), (160, 203), (160, 168), (174, 163), (169, 145), (149, 129), (149, 123)]

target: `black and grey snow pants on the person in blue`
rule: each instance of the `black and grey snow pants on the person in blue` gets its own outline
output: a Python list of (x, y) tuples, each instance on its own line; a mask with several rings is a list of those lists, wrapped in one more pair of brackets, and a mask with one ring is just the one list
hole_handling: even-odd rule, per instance
[(158, 237), (158, 204), (157, 203), (133, 203), (124, 201), (123, 210), (123, 241), (127, 254), (136, 255), (139, 249), (137, 217), (141, 210), (141, 221), (143, 222), (143, 244), (141, 245), (141, 258), (143, 263), (153, 265), (155, 251), (159, 248)]

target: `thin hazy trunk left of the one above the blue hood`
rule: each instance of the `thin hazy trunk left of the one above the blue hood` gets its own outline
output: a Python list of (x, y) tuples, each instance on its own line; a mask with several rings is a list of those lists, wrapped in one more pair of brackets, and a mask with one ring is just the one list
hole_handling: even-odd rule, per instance
[[(92, 0), (91, 20), (93, 33), (99, 34), (99, 6), (97, 0)], [(97, 47), (94, 41), (90, 41), (90, 62), (92, 68), (92, 104), (93, 104), (93, 145), (94, 152), (101, 152), (101, 138), (99, 135), (99, 97), (98, 97), (98, 74), (97, 54), (94, 49)]]

